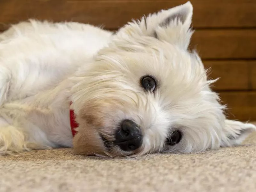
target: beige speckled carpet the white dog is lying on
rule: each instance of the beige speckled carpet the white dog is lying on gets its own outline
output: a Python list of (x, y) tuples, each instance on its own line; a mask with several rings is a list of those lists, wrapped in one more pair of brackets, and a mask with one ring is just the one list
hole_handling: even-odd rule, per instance
[(256, 191), (256, 133), (245, 146), (137, 159), (75, 156), (70, 149), (0, 157), (0, 191)]

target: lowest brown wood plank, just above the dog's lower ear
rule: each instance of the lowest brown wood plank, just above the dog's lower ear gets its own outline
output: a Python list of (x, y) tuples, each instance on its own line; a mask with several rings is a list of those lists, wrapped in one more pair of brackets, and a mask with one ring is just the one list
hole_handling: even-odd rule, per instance
[(220, 97), (228, 105), (228, 118), (256, 120), (256, 92), (220, 92)]

